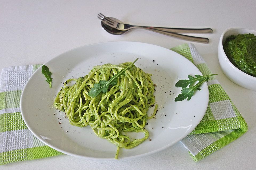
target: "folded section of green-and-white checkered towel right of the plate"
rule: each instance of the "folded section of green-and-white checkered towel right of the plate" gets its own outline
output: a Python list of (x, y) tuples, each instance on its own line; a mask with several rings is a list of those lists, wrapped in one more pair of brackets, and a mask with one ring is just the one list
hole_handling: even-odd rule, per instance
[[(183, 44), (171, 50), (189, 59), (203, 75), (213, 74), (193, 44)], [(239, 138), (247, 124), (215, 76), (207, 82), (209, 103), (197, 127), (184, 139), (183, 146), (197, 162)]]

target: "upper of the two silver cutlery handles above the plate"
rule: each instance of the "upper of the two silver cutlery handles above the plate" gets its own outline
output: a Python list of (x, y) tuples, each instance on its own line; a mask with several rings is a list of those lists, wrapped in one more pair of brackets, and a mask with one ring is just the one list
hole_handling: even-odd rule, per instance
[(165, 27), (143, 27), (143, 28), (151, 28), (159, 31), (166, 32), (175, 32), (175, 33), (212, 33), (213, 30), (211, 28), (165, 28)]

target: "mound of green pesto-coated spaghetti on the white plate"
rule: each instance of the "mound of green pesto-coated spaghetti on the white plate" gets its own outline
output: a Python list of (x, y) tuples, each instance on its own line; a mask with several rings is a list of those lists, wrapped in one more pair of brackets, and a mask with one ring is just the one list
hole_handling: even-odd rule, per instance
[[(154, 83), (150, 76), (132, 65), (124, 75), (118, 77), (117, 84), (110, 86), (106, 93), (91, 98), (88, 92), (99, 80), (109, 80), (131, 62), (119, 65), (105, 64), (94, 67), (88, 75), (69, 79), (64, 83), (54, 101), (54, 107), (65, 111), (71, 125), (90, 125), (94, 133), (119, 147), (133, 148), (149, 137), (145, 129), (147, 119), (154, 118), (157, 111), (147, 116), (147, 111), (155, 103)], [(74, 81), (75, 84), (67, 86)], [(145, 136), (133, 141), (123, 132), (142, 132)]]

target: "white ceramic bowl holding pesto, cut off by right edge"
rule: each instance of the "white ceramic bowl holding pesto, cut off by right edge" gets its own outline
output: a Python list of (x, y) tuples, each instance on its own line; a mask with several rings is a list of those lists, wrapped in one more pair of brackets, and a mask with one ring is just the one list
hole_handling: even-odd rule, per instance
[(253, 33), (254, 35), (256, 35), (256, 31), (251, 29), (230, 28), (224, 31), (219, 39), (218, 57), (221, 69), (223, 73), (227, 76), (227, 78), (229, 78), (231, 81), (238, 84), (239, 86), (256, 91), (256, 77), (246, 74), (243, 71), (239, 70), (237, 67), (235, 67), (229, 61), (223, 50), (223, 44), (225, 43), (227, 37), (231, 35), (248, 33)]

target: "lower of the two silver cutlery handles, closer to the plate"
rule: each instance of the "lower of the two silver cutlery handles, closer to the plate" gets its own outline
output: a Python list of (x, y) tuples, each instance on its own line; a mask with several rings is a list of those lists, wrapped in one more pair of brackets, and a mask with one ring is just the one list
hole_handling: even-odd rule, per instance
[(195, 42), (205, 43), (205, 44), (209, 43), (208, 38), (194, 37), (194, 36), (183, 35), (183, 34), (178, 34), (178, 33), (174, 33), (174, 32), (160, 31), (157, 29), (151, 29), (151, 28), (146, 28), (146, 27), (140, 27), (140, 28), (147, 29), (147, 30), (153, 31), (153, 32), (158, 32), (160, 34), (176, 37), (176, 38), (183, 39), (183, 40), (195, 41)]

